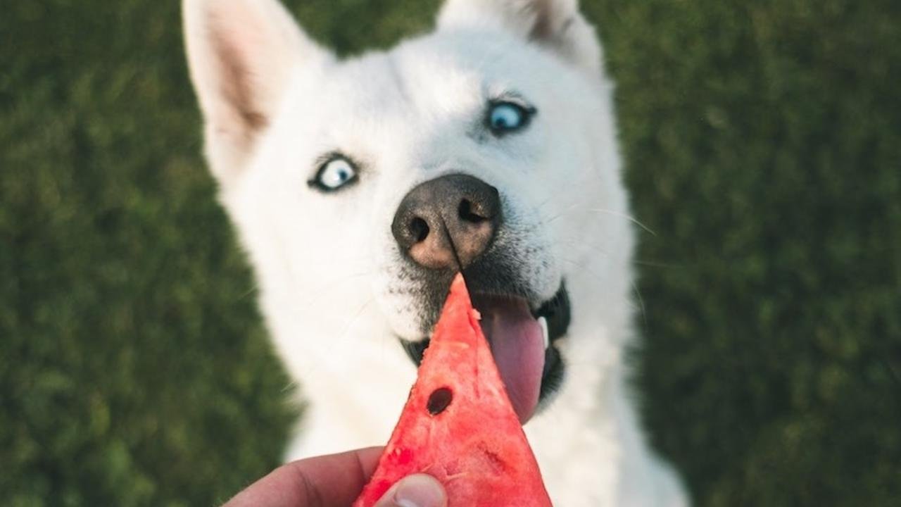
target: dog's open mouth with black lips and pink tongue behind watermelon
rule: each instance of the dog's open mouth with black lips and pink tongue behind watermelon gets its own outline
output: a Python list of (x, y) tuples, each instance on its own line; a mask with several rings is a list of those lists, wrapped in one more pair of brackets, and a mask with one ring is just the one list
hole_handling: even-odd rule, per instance
[[(507, 394), (524, 424), (547, 405), (563, 381), (565, 368), (555, 344), (569, 329), (569, 293), (561, 283), (554, 296), (537, 308), (514, 295), (475, 292), (472, 301), (482, 316), (482, 331)], [(415, 342), (402, 338), (401, 343), (418, 365), (429, 338)]]

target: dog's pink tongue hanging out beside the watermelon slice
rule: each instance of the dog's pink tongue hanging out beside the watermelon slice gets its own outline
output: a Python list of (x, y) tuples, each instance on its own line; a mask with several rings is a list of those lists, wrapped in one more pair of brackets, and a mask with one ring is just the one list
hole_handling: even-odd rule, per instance
[(544, 336), (524, 300), (477, 298), (482, 332), (504, 380), (510, 402), (521, 423), (538, 406), (544, 370)]

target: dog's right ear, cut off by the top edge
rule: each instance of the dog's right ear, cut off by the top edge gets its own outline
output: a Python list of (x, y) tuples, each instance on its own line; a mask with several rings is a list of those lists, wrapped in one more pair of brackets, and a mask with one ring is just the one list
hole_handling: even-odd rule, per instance
[(583, 69), (600, 70), (601, 47), (594, 28), (578, 12), (578, 0), (446, 0), (438, 26), (513, 32)]

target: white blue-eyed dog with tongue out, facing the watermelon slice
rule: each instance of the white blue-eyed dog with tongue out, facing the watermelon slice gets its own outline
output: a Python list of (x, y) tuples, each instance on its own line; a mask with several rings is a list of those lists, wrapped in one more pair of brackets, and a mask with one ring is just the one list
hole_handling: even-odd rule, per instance
[(387, 442), (461, 264), (554, 502), (687, 504), (626, 380), (633, 231), (576, 0), (447, 0), (350, 60), (278, 0), (184, 14), (206, 156), (309, 401), (288, 457)]

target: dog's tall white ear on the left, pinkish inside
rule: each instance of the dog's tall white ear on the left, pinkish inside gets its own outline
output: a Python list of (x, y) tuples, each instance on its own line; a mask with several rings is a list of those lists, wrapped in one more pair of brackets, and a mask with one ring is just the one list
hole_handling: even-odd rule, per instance
[(227, 185), (284, 98), (293, 72), (329, 58), (278, 0), (183, 0), (191, 80), (210, 168)]

